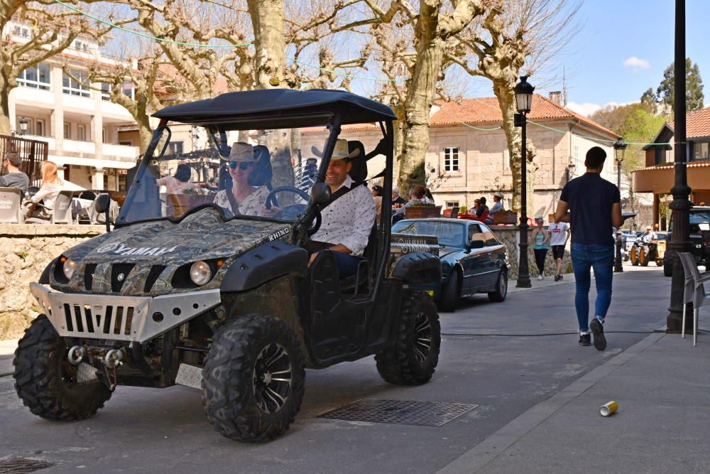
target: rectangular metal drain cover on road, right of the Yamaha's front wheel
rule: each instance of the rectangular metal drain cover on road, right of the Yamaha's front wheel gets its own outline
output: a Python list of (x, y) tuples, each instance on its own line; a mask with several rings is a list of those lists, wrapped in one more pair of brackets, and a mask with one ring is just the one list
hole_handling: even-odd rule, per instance
[(408, 400), (362, 399), (327, 411), (319, 418), (344, 421), (371, 421), (420, 426), (442, 426), (478, 405), (461, 403), (411, 402)]

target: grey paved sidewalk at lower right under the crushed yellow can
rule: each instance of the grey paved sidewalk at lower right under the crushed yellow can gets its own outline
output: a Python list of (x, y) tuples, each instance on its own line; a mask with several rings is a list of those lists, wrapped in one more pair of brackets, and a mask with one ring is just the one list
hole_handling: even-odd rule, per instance
[(709, 373), (710, 334), (652, 334), (439, 473), (708, 473)]

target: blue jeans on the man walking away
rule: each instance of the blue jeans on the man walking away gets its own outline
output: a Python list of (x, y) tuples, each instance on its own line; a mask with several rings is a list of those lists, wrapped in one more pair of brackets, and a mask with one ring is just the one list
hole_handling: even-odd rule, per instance
[(596, 281), (596, 303), (594, 316), (601, 320), (611, 304), (611, 270), (614, 264), (614, 246), (601, 244), (572, 244), (572, 269), (577, 281), (577, 293), (574, 295), (574, 308), (577, 309), (579, 330), (589, 330), (589, 287), (594, 268)]

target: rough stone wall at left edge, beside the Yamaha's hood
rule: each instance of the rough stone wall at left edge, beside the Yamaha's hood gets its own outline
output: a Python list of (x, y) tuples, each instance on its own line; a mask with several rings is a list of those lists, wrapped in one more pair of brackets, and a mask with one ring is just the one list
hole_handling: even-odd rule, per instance
[(47, 264), (105, 231), (103, 225), (0, 224), (0, 340), (19, 338), (37, 316), (28, 285)]

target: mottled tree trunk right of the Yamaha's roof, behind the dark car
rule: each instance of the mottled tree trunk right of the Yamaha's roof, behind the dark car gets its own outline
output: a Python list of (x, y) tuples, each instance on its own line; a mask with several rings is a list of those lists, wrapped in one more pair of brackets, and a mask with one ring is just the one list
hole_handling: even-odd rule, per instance
[(398, 185), (403, 194), (417, 184), (413, 182), (417, 166), (424, 162), (429, 148), (429, 113), (442, 72), (444, 52), (444, 40), (437, 36), (439, 6), (422, 1), (415, 26), (417, 61), (407, 90), (402, 126), (403, 147), (398, 156)]

